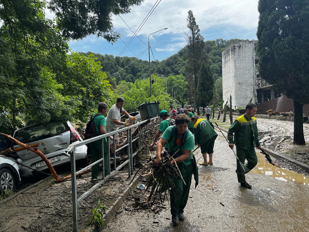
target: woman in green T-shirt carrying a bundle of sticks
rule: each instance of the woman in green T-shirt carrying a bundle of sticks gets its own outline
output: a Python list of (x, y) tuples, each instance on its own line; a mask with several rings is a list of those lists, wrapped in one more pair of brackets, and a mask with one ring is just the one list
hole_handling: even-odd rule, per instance
[[(194, 174), (195, 187), (198, 184), (198, 171), (196, 160), (192, 150), (194, 149), (193, 134), (188, 130), (189, 118), (186, 114), (180, 114), (175, 118), (175, 126), (167, 127), (163, 135), (157, 144), (157, 157), (155, 159), (155, 165), (159, 166), (161, 161), (161, 153), (163, 146), (167, 143), (169, 148), (169, 154), (173, 155), (179, 150), (173, 157), (177, 162), (181, 175), (175, 176), (173, 183), (178, 191), (171, 191), (171, 215), (172, 222), (177, 224), (184, 220), (184, 208), (188, 201), (192, 174)], [(174, 161), (171, 161), (173, 164)]]

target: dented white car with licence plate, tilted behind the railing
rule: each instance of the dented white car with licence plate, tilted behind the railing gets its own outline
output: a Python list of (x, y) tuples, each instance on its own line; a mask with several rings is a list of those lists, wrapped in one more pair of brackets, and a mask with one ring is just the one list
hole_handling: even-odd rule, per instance
[[(66, 153), (68, 146), (82, 138), (71, 122), (48, 122), (22, 127), (14, 132), (13, 137), (20, 142), (38, 148), (53, 166), (70, 162), (70, 154)], [(20, 148), (15, 145), (14, 149)], [(47, 170), (46, 163), (36, 153), (20, 148), (16, 152), (21, 177), (32, 176), (36, 171)], [(87, 146), (82, 145), (74, 150), (75, 159), (86, 159)]]

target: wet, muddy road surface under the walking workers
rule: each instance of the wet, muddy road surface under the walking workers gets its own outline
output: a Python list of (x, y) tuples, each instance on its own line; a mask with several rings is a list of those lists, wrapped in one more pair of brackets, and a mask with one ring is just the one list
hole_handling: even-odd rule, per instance
[[(237, 182), (235, 156), (219, 135), (214, 165), (199, 165), (197, 189), (192, 179), (185, 221), (173, 226), (169, 208), (158, 214), (124, 210), (105, 231), (309, 231), (309, 177), (257, 155), (259, 163), (248, 175), (253, 187), (245, 189)], [(203, 160), (200, 150), (195, 156)]]

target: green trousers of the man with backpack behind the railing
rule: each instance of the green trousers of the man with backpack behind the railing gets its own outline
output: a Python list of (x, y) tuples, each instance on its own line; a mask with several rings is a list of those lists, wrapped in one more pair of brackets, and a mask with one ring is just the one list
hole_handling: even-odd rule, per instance
[[(103, 148), (104, 148), (104, 176), (108, 175), (108, 164), (109, 158), (107, 153), (108, 144), (107, 141), (103, 140)], [(92, 142), (90, 144), (91, 149), (91, 162), (94, 163), (95, 161), (99, 160), (102, 157), (102, 141), (98, 140)], [(99, 165), (100, 163), (92, 166), (91, 177), (92, 179), (97, 179), (99, 175)]]

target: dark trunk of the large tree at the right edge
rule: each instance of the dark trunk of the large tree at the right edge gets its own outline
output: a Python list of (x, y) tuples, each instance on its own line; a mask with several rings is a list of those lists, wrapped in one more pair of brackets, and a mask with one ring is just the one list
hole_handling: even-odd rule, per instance
[(305, 145), (303, 130), (303, 104), (298, 101), (294, 102), (294, 144)]

